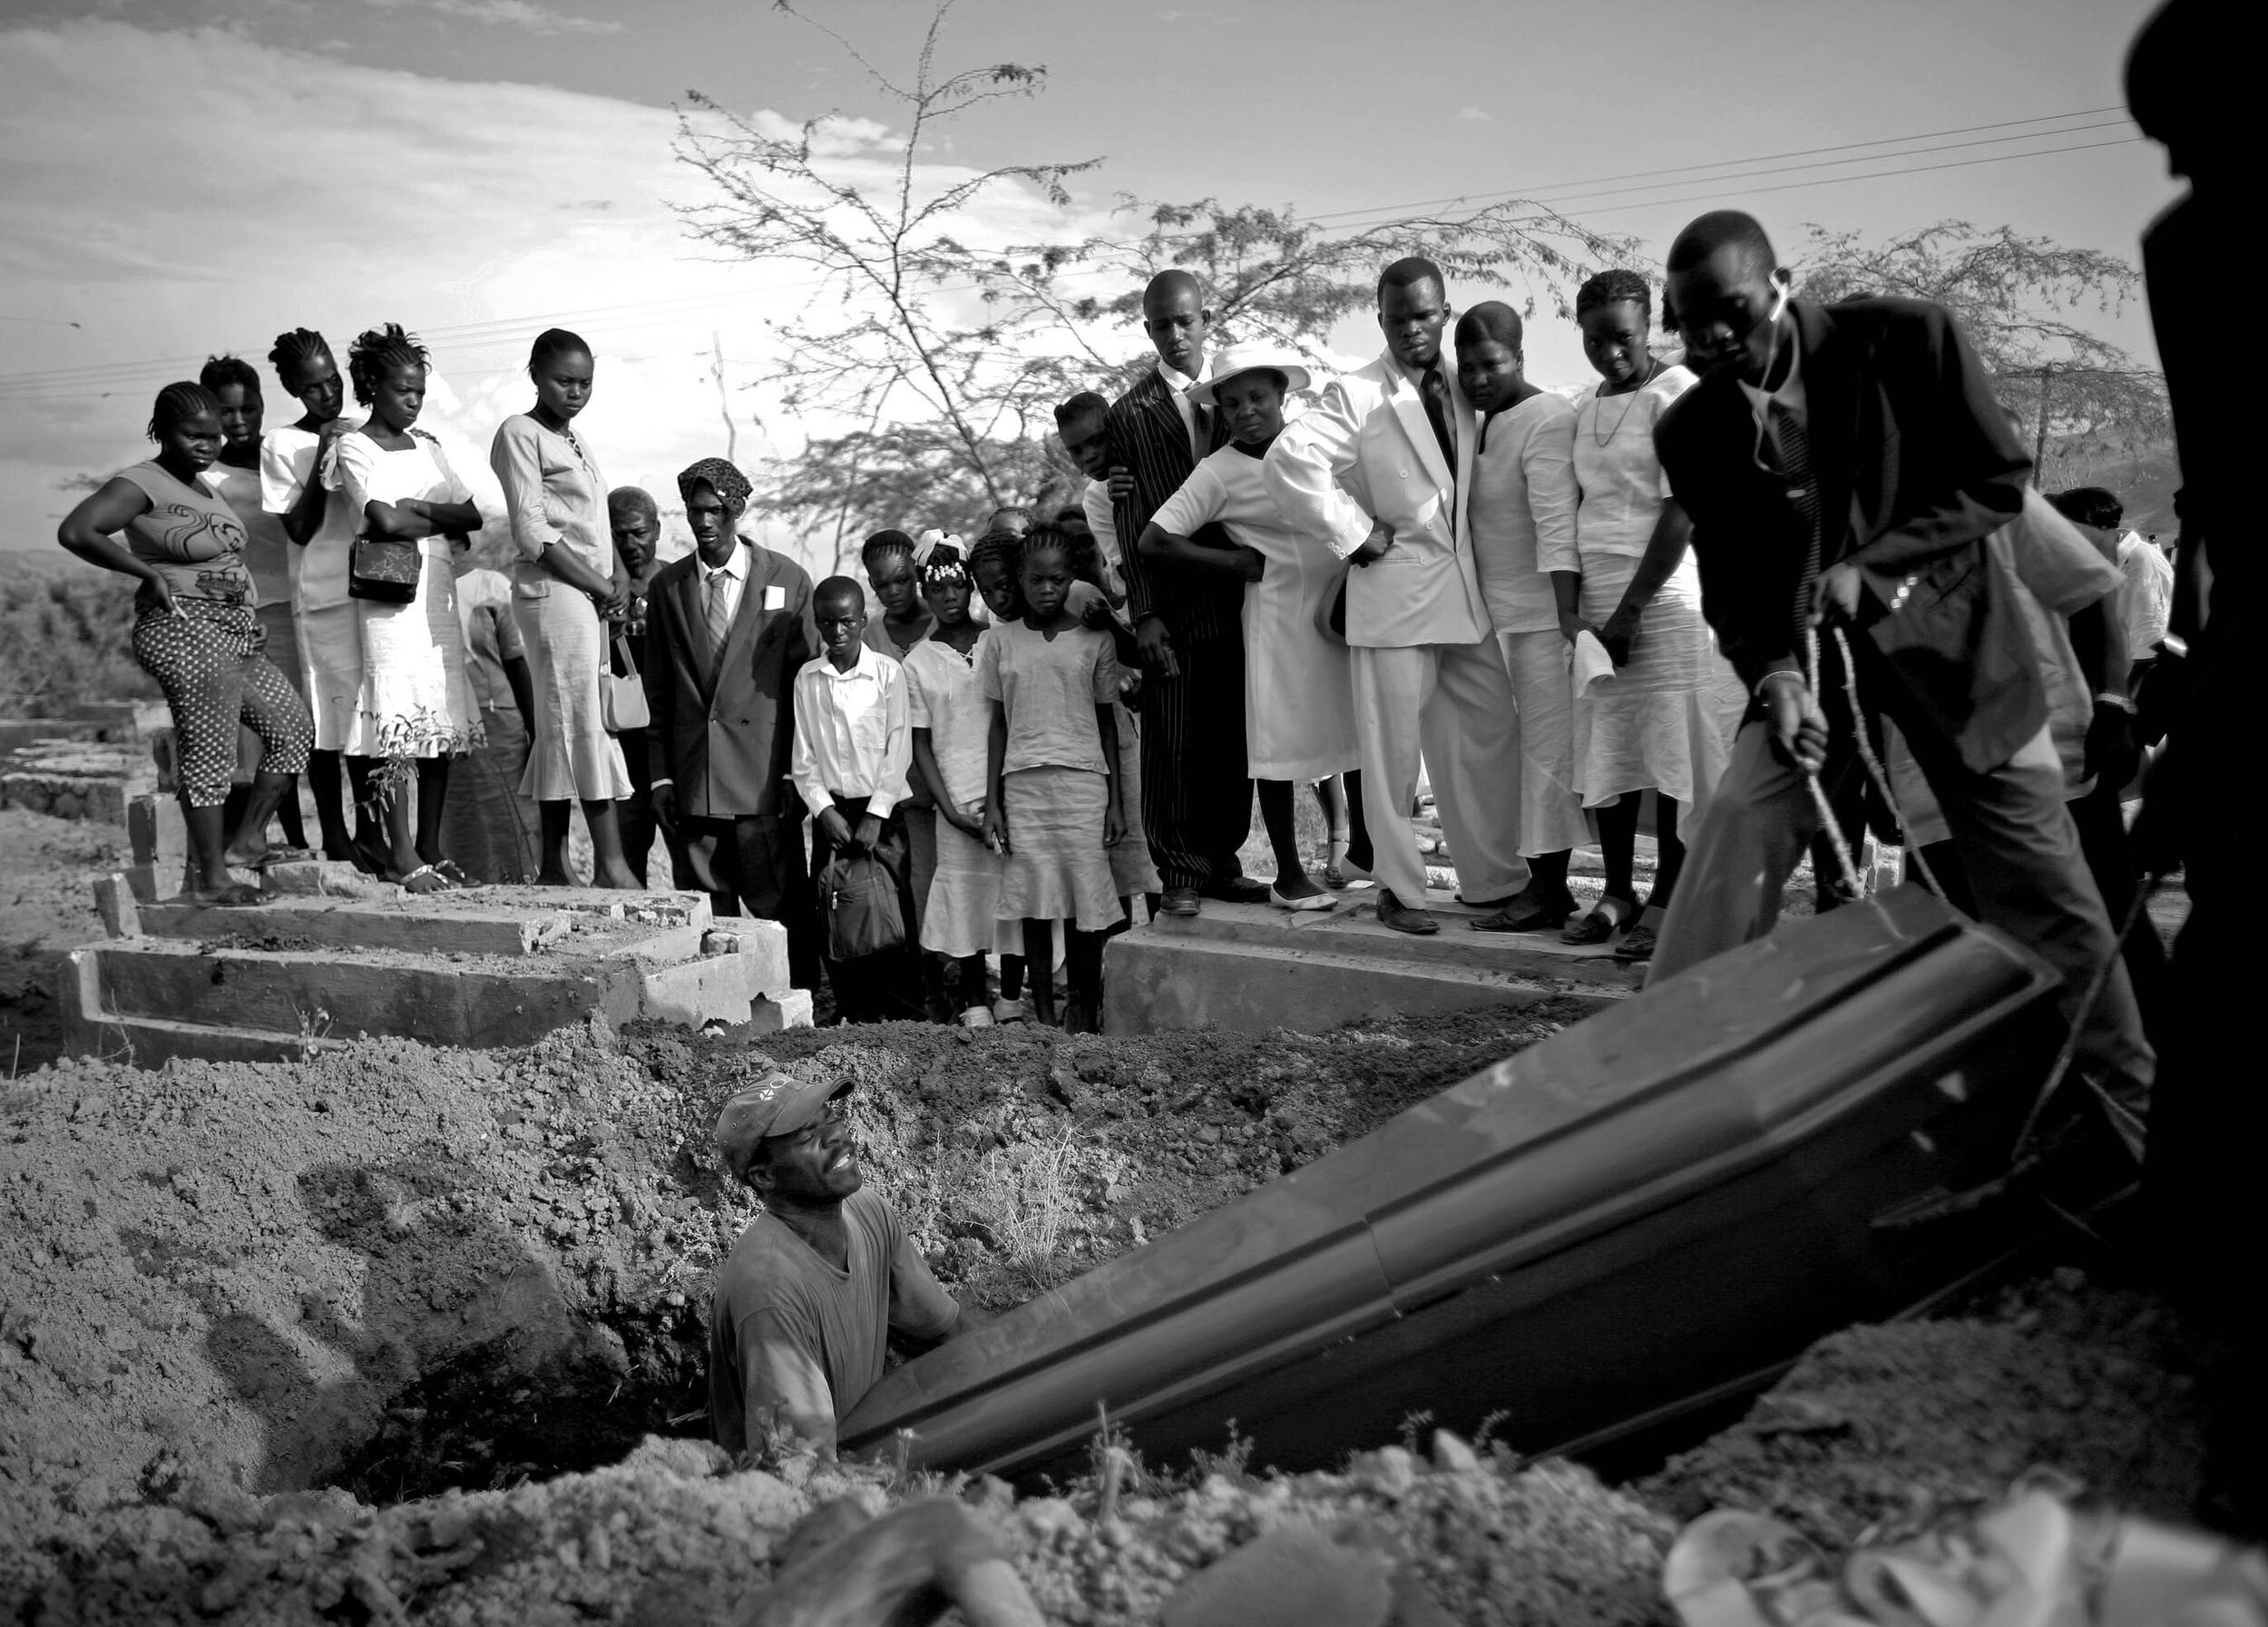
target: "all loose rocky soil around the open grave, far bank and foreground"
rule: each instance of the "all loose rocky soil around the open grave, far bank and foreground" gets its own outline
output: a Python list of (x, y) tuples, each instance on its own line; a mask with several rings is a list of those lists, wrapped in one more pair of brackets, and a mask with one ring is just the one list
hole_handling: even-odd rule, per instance
[[(109, 837), (34, 821), (0, 840), (5, 926), (45, 908), (43, 937), (91, 935), (73, 890)], [(1567, 1019), (1148, 1039), (596, 1026), (494, 1053), (27, 1062), (0, 1089), (0, 1622), (733, 1620), (828, 1500), (943, 1491), (1000, 1527), (1057, 1622), (1159, 1620), (1222, 1554), (1311, 1532), (1393, 1575), (1397, 1620), (1581, 1627), (1665, 1620), (1662, 1548), (1721, 1502), (1842, 1545), (2053, 1466), (2195, 1511), (2195, 1357), (2152, 1300), (2077, 1273), (1837, 1334), (1742, 1423), (1613, 1466), (1619, 1484), (1420, 1423), (1347, 1441), (1340, 1473), (1254, 1473), (1222, 1441), (1021, 1498), (735, 1466), (701, 1439), (708, 1271), (748, 1214), (708, 1126), (764, 1069), (860, 1085), (871, 1180), (939, 1275), (998, 1309)]]

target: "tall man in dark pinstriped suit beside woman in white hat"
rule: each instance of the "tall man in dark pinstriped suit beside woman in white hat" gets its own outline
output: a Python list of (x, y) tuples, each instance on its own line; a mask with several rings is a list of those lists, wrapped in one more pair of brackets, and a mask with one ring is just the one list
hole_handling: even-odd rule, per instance
[[(1229, 572), (1141, 558), (1134, 538), (1173, 497), (1198, 458), (1227, 445), (1229, 427), (1188, 399), (1204, 379), (1213, 313), (1184, 270), (1159, 272), (1141, 297), (1157, 368), (1111, 402), (1107, 465), (1132, 474), (1111, 504), (1118, 570), (1141, 647), (1141, 819), (1163, 885), (1166, 914), (1195, 914), (1198, 899), (1266, 903), (1268, 883), (1243, 874), (1236, 849), (1252, 831), (1245, 758), (1245, 583)], [(1198, 542), (1229, 547), (1220, 526)]]

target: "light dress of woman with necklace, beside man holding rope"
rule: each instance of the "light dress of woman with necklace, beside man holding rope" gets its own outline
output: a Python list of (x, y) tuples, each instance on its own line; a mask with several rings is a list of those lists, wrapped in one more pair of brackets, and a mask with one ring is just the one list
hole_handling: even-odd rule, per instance
[[(1669, 477), (1653, 456), (1653, 424), (1696, 383), (1685, 368), (1640, 390), (1576, 402), (1574, 477), (1583, 488), (1574, 538), (1583, 572), (1583, 617), (1603, 624), (1669, 504)], [(1545, 570), (1551, 570), (1545, 563)], [(1701, 619), (1701, 572), (1692, 549), (1637, 617), (1631, 658), (1576, 697), (1576, 783), (1599, 808), (1649, 785), (1681, 803), (1706, 801), (1724, 774), (1730, 665)]]

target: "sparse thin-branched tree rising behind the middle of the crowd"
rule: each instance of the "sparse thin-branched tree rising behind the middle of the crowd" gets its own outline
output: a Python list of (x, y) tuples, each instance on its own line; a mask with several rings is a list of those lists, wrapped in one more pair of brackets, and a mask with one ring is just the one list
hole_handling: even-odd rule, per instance
[[(873, 524), (971, 524), (984, 508), (1068, 499), (1080, 477), (1052, 445), (1052, 406), (1077, 390), (1116, 393), (1139, 374), (1141, 288), (1168, 265), (1204, 279), (1222, 338), (1266, 336), (1325, 359), (1331, 327), (1368, 309), (1379, 265), (1399, 254), (1429, 254), (1465, 288), (1520, 288), (1531, 313), (1535, 290), (1567, 313), (1585, 265), (1635, 254), (1628, 238), (1522, 200), (1349, 229), (1213, 197), (1120, 197), (1127, 231), (1075, 238), (1066, 179), (1098, 159), (950, 175), (923, 159), (943, 120), (1036, 95), (1043, 68), (939, 70), (953, 0), (932, 11), (907, 79), (885, 75), (792, 0), (778, 9), (828, 34), (903, 125), (846, 157), (848, 127), (832, 116), (769, 129), (696, 93), (678, 120), (678, 157), (717, 195), (683, 216), (696, 238), (730, 254), (819, 272), (810, 306), (773, 324), (780, 361), (760, 381), (789, 415), (848, 429), (812, 436), (801, 456), (758, 472), (758, 504), (807, 533), (832, 531), (837, 563)], [(971, 209), (1034, 197), (1066, 211), (1061, 241), (1007, 252), (962, 241)]]

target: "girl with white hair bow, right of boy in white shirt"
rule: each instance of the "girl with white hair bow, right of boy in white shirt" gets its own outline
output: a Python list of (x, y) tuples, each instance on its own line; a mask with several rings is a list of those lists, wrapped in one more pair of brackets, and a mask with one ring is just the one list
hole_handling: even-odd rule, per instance
[(1000, 919), (1000, 855), (984, 844), (984, 774), (991, 708), (978, 683), (984, 629), (968, 617), (973, 585), (962, 551), (939, 545), (921, 567), (934, 629), (905, 651), (905, 717), (914, 776), (937, 803), (937, 867), (921, 949), (953, 962), (953, 1003), (964, 1028), (991, 1028), (984, 955)]

